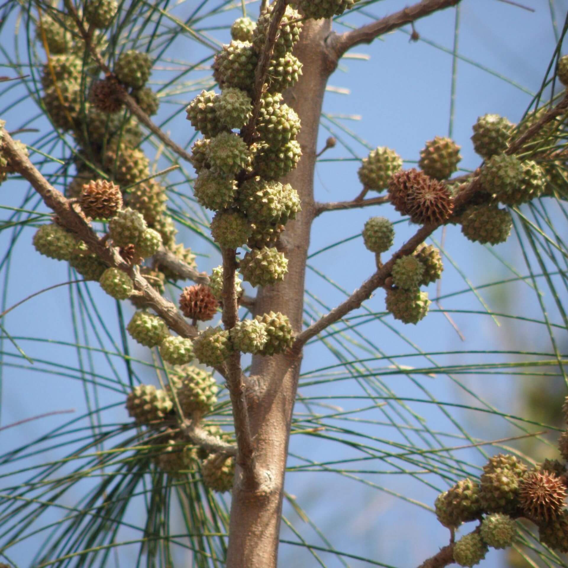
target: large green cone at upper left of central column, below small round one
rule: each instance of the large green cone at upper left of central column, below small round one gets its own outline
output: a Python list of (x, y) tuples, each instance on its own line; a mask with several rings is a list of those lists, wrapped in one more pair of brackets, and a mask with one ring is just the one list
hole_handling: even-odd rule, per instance
[(233, 40), (215, 56), (213, 76), (222, 89), (237, 87), (250, 93), (257, 62), (258, 55), (251, 43)]

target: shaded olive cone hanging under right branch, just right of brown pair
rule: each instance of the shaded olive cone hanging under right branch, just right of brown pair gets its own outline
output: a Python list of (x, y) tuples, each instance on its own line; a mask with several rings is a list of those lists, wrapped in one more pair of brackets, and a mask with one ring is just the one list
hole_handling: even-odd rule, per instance
[(506, 209), (496, 205), (473, 205), (461, 217), (462, 233), (470, 241), (496, 245), (511, 234), (513, 221)]

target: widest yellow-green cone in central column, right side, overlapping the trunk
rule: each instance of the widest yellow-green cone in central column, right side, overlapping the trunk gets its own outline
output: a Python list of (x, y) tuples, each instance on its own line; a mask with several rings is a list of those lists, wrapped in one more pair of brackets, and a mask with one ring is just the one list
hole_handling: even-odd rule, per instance
[(302, 210), (298, 192), (286, 183), (247, 179), (239, 191), (239, 209), (253, 223), (286, 224)]

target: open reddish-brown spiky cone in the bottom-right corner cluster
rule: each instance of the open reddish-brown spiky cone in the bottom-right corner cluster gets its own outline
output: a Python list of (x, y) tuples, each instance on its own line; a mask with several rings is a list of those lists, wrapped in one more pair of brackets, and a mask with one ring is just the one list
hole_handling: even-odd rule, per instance
[(553, 473), (529, 471), (519, 486), (519, 504), (529, 519), (541, 523), (556, 519), (564, 508), (566, 487)]

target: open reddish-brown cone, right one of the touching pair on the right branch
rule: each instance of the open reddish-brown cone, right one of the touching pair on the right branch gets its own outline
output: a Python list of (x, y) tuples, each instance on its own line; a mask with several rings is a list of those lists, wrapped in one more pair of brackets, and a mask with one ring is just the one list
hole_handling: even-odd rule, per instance
[(452, 215), (454, 203), (444, 183), (424, 176), (408, 191), (406, 209), (412, 223), (443, 223)]

